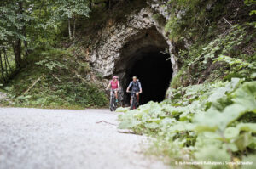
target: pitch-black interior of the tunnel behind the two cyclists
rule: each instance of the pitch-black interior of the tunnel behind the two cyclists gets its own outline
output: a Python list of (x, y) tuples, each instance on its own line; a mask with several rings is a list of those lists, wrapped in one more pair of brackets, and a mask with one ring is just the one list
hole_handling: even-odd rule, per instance
[[(124, 89), (128, 87), (132, 76), (137, 76), (142, 83), (143, 93), (140, 104), (148, 101), (160, 102), (165, 99), (166, 90), (172, 80), (172, 64), (169, 54), (143, 53), (128, 65), (125, 74)], [(130, 94), (125, 93), (125, 104), (129, 104)]]

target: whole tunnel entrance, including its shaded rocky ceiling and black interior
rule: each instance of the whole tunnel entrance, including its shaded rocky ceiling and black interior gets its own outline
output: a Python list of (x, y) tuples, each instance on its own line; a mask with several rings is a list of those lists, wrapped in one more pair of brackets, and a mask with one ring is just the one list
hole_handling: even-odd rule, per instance
[(172, 79), (168, 48), (165, 38), (155, 28), (138, 33), (124, 45), (113, 70), (113, 74), (119, 76), (123, 104), (130, 104), (130, 93), (125, 90), (132, 76), (137, 76), (142, 83), (140, 104), (165, 99)]

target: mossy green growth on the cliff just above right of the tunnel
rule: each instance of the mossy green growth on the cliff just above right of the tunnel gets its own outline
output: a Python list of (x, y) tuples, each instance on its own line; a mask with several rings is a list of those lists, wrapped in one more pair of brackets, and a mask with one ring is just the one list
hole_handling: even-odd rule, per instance
[[(207, 32), (209, 20), (218, 17), (218, 11), (224, 6), (214, 7), (211, 14), (206, 11), (210, 1), (200, 0), (169, 0), (170, 20), (166, 23), (166, 32), (174, 42), (181, 42), (184, 38), (196, 40)], [(222, 7), (222, 8), (220, 8)], [(212, 23), (214, 24), (214, 23)]]

